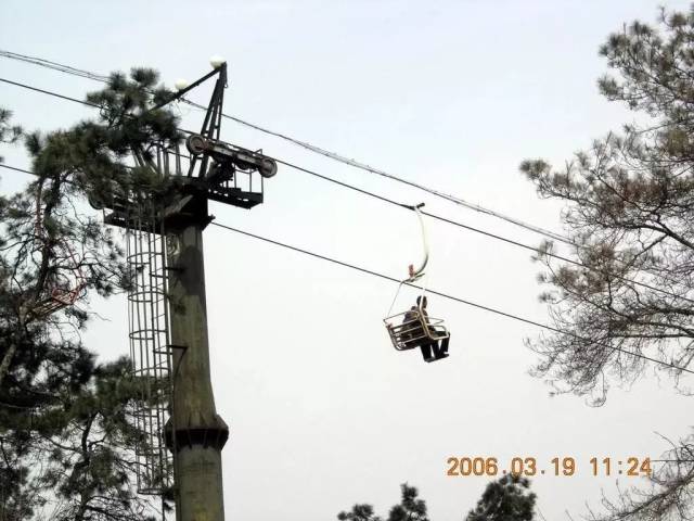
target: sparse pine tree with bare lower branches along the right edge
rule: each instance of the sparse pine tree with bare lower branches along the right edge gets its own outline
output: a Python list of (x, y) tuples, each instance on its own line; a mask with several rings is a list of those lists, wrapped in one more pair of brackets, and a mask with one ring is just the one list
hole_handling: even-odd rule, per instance
[[(657, 26), (633, 22), (611, 35), (600, 53), (612, 74), (601, 92), (639, 115), (639, 124), (596, 140), (555, 169), (543, 160), (520, 169), (542, 198), (565, 204), (562, 218), (575, 259), (545, 266), (540, 281), (554, 326), (568, 332), (529, 342), (536, 368), (557, 392), (606, 399), (611, 383), (631, 383), (656, 358), (678, 381), (694, 345), (694, 5), (661, 10)], [(639, 282), (635, 283), (634, 281)], [(654, 366), (655, 367), (655, 366)], [(652, 476), (602, 520), (693, 519), (694, 437), (673, 445)]]

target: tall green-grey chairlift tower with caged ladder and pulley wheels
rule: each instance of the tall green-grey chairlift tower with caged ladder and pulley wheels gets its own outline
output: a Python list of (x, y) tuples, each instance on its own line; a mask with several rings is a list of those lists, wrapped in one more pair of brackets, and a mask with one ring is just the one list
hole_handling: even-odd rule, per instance
[(214, 218), (208, 201), (252, 208), (262, 203), (264, 180), (277, 173), (277, 163), (261, 152), (220, 141), (227, 64), (213, 65), (169, 100), (216, 77), (201, 132), (189, 134), (187, 150), (133, 153), (138, 166), (172, 177), (174, 188), (156, 200), (134, 193), (92, 202), (111, 209), (106, 224), (127, 230), (130, 348), (134, 374), (145, 383), (144, 405), (136, 411), (143, 433), (138, 487), (164, 494), (172, 467), (178, 521), (224, 519), (221, 449), (229, 428), (217, 414), (209, 374), (203, 255), (203, 230)]

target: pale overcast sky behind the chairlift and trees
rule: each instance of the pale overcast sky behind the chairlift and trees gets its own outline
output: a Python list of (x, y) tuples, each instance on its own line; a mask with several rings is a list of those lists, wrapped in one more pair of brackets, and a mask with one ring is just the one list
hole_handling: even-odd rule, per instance
[[(540, 201), (517, 166), (563, 162), (633, 118), (597, 93), (606, 36), (653, 21), (652, 0), (207, 1), (3, 0), (0, 49), (97, 73), (156, 67), (169, 86), (229, 62), (226, 112), (519, 219), (561, 230), (560, 206)], [(667, 2), (686, 8), (685, 1)], [(82, 98), (99, 84), (0, 58), (0, 77)], [(206, 103), (209, 87), (190, 98)], [(0, 84), (0, 105), (27, 129), (65, 128), (89, 109)], [(201, 114), (181, 105), (183, 126)], [(224, 120), (222, 138), (486, 230), (540, 237), (318, 156)], [(20, 148), (7, 164), (29, 167)], [(2, 173), (3, 193), (27, 182)], [(395, 277), (421, 255), (415, 217), (281, 167), (252, 211), (219, 204), (220, 224)], [(547, 321), (539, 266), (527, 251), (428, 223), (429, 285)], [(460, 520), (488, 478), (446, 475), (451, 456), (574, 456), (570, 478), (538, 476), (548, 520), (599, 506), (616, 479), (591, 457), (657, 457), (657, 433), (685, 435), (691, 399), (667, 378), (614, 386), (607, 404), (550, 397), (528, 374), (524, 347), (539, 331), (430, 297), (452, 332), (451, 356), (426, 365), (389, 345), (382, 319), (396, 287), (209, 227), (208, 326), (217, 408), (231, 428), (223, 450), (227, 519), (323, 521), (354, 503), (382, 514), (399, 484), (416, 485), (434, 521)], [(398, 307), (415, 294), (404, 292)], [(103, 359), (128, 353), (125, 297), (92, 298), (85, 341)], [(648, 371), (650, 374), (653, 371)], [(645, 484), (635, 478), (620, 486)]]

